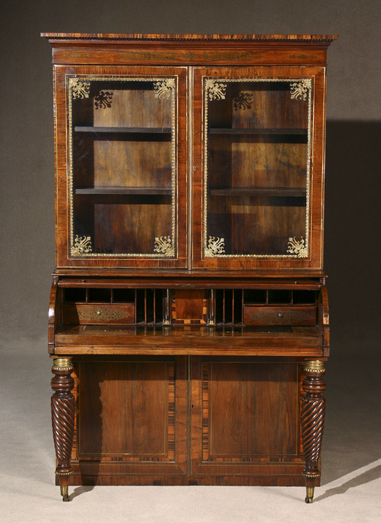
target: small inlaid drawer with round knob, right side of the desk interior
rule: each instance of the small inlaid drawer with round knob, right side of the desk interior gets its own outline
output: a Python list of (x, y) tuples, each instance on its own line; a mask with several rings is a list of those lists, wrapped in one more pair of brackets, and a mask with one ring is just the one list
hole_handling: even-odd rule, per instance
[(245, 325), (316, 325), (316, 307), (244, 305)]

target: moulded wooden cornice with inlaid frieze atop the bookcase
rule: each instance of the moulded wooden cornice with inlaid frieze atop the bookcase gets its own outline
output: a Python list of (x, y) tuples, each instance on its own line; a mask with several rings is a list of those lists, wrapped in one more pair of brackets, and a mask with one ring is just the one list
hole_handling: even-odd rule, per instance
[[(41, 33), (55, 64), (326, 64), (337, 35)], [(275, 52), (276, 49), (276, 52)], [(107, 53), (107, 57), (106, 57)]]

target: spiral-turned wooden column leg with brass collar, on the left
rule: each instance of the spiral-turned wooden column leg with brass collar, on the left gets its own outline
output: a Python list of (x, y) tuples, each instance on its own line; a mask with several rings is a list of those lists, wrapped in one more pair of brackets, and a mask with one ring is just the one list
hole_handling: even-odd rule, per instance
[(71, 469), (71, 449), (74, 435), (74, 396), (71, 393), (74, 380), (71, 377), (73, 364), (71, 357), (59, 357), (54, 360), (51, 369), (55, 377), (51, 380), (54, 394), (51, 398), (51, 419), (57, 468), (55, 475), (60, 477), (62, 501), (69, 502), (69, 476)]

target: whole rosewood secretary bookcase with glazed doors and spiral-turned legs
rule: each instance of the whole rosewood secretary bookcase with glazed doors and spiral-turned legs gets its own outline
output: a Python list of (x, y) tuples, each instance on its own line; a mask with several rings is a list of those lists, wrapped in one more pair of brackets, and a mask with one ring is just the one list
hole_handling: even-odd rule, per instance
[(335, 35), (53, 47), (57, 484), (319, 485)]

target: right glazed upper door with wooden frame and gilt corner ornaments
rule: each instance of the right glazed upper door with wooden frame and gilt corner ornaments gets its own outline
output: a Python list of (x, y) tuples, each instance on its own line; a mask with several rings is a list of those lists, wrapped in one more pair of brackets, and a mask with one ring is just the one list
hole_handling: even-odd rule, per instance
[(193, 263), (322, 265), (323, 67), (194, 70)]

